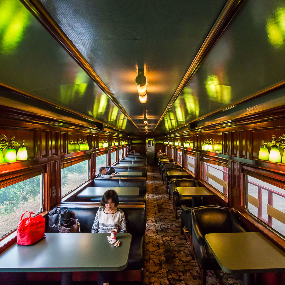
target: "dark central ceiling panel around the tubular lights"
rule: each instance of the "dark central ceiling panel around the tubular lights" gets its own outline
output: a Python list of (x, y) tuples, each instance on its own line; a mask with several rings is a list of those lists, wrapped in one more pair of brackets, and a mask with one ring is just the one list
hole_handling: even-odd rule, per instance
[[(163, 113), (225, 2), (41, 0), (136, 124), (146, 110)], [(145, 104), (138, 69), (149, 82)]]

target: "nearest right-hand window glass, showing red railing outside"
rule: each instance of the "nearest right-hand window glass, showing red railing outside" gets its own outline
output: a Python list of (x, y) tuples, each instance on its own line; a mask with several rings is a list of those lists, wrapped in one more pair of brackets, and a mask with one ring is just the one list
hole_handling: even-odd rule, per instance
[(247, 176), (246, 210), (285, 236), (285, 190)]

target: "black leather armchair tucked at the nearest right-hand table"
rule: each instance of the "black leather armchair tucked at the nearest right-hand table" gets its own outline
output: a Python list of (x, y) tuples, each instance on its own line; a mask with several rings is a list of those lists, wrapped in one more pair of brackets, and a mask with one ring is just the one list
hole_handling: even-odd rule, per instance
[[(239, 233), (245, 228), (230, 208), (203, 206), (192, 208), (192, 242), (201, 272), (201, 283), (206, 284), (206, 270), (221, 270), (211, 249), (205, 242), (207, 233)], [(229, 253), (231, 254), (231, 253)]]

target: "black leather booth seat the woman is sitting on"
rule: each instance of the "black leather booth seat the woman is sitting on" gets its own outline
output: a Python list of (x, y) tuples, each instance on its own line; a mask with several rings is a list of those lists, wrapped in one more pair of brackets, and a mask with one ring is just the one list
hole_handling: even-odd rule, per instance
[[(91, 233), (96, 213), (100, 207), (98, 203), (88, 205), (80, 205), (78, 203), (64, 203), (59, 207), (68, 207), (80, 223), (82, 233)], [(133, 205), (118, 205), (126, 218), (127, 232), (132, 235), (130, 253), (128, 257), (128, 266), (125, 270), (143, 270), (144, 266), (144, 234), (146, 227), (146, 210), (144, 203), (136, 203)], [(45, 216), (45, 232), (58, 232), (57, 227), (49, 227), (48, 214)], [(95, 235), (95, 234), (94, 234)], [(106, 241), (107, 242), (107, 241)]]

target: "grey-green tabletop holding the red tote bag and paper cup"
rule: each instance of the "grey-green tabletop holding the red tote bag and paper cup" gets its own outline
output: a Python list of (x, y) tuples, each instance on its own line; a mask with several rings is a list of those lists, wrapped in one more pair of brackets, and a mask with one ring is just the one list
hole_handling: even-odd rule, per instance
[(46, 233), (33, 245), (14, 244), (0, 255), (0, 272), (120, 271), (127, 267), (132, 235), (118, 233)]

